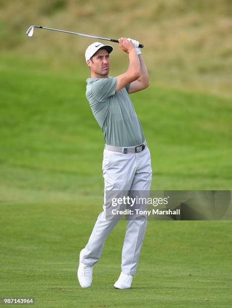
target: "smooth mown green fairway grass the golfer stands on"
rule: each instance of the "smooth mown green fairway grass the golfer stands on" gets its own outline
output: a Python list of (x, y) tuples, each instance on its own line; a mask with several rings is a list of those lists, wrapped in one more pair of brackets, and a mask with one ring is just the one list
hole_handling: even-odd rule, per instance
[[(104, 140), (85, 98), (88, 76), (1, 56), (0, 296), (35, 297), (38, 307), (230, 307), (230, 221), (148, 221), (137, 275), (122, 291), (113, 288), (120, 221), (93, 286), (79, 286), (79, 251), (103, 201)], [(231, 189), (230, 99), (154, 84), (131, 99), (153, 190)]]

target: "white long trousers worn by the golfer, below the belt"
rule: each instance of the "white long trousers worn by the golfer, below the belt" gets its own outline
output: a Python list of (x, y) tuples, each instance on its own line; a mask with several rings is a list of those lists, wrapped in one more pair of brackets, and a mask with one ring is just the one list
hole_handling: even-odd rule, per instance
[[(138, 153), (120, 153), (104, 149), (103, 155), (104, 205), (89, 242), (83, 249), (82, 263), (93, 266), (101, 257), (105, 240), (119, 219), (106, 220), (106, 191), (149, 191), (151, 162), (148, 147)], [(121, 270), (134, 275), (146, 230), (146, 219), (128, 220), (122, 249)]]

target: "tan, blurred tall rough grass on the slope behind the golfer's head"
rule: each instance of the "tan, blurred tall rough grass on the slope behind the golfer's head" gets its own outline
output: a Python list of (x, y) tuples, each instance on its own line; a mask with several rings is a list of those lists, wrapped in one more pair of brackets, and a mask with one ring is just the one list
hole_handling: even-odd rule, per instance
[[(50, 59), (55, 66), (71, 69), (73, 61), (86, 65), (84, 52), (93, 39), (39, 29), (28, 39), (29, 25), (131, 37), (144, 44), (152, 83), (231, 96), (231, 13), (229, 0), (2, 0), (0, 50)], [(116, 74), (126, 68), (127, 56), (113, 45)]]

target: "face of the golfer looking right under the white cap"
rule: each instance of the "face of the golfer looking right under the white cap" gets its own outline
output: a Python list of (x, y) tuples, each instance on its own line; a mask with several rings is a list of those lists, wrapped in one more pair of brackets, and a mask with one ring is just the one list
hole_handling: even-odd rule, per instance
[[(93, 62), (92, 62), (93, 61)], [(92, 61), (88, 60), (91, 72), (95, 75), (106, 76), (110, 69), (110, 55), (106, 49), (98, 50), (92, 57)]]

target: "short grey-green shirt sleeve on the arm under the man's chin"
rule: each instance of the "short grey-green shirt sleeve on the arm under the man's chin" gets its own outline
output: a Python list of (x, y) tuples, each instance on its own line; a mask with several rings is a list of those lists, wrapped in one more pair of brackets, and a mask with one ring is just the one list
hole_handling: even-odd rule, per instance
[(92, 83), (91, 92), (97, 101), (104, 102), (110, 96), (115, 95), (116, 86), (117, 77), (99, 78)]

